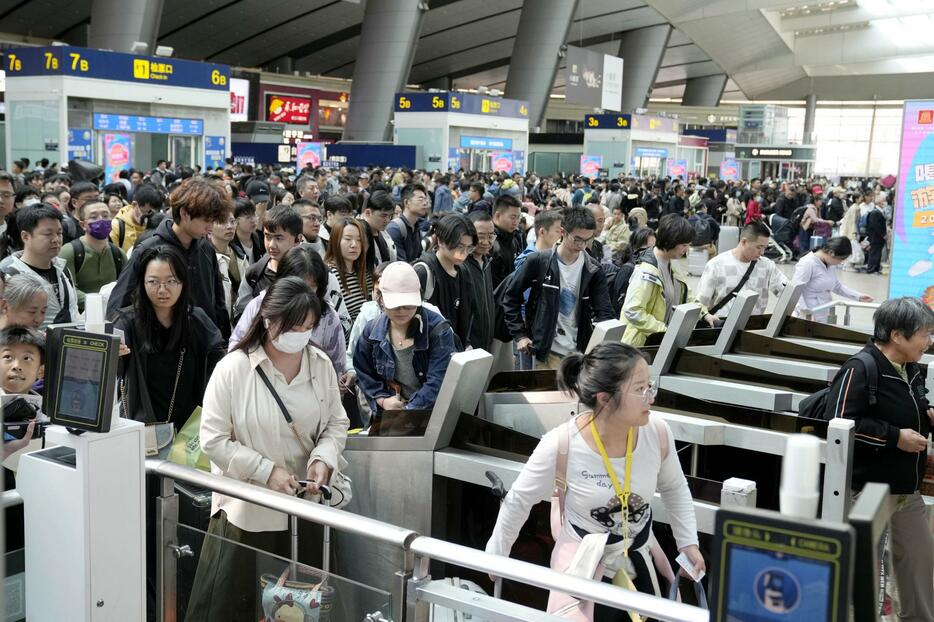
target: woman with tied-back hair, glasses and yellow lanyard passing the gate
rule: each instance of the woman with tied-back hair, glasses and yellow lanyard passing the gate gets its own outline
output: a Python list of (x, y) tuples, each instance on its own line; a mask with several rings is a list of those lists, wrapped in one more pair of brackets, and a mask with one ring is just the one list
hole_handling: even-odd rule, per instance
[[(667, 586), (659, 574), (669, 583), (674, 575), (652, 536), (649, 504), (658, 491), (678, 549), (695, 573), (704, 570), (674, 438), (649, 410), (657, 389), (644, 355), (622, 343), (573, 352), (561, 362), (558, 386), (584, 408), (542, 438), (503, 501), (487, 552), (508, 556), (532, 506), (552, 493), (552, 569), (661, 595)], [(558, 592), (548, 612), (580, 621), (630, 619)]]

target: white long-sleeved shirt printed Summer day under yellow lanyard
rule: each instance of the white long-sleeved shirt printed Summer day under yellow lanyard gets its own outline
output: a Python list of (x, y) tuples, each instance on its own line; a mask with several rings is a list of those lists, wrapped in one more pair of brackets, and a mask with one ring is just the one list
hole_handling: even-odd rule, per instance
[[(567, 424), (562, 424), (567, 425)], [(600, 454), (590, 448), (571, 425), (568, 446), (567, 495), (564, 518), (567, 524), (589, 533), (622, 535), (619, 498), (607, 475)], [(519, 477), (503, 500), (503, 505), (486, 545), (488, 553), (509, 555), (519, 530), (528, 519), (532, 506), (550, 497), (554, 489), (555, 466), (561, 427), (542, 437)], [(661, 457), (659, 435), (668, 437), (668, 453)], [(636, 536), (648, 525), (649, 507), (655, 491), (661, 494), (678, 548), (697, 544), (697, 521), (687, 480), (678, 462), (675, 441), (668, 424), (650, 415), (649, 423), (639, 428), (632, 456), (631, 494), (629, 497), (629, 537)], [(624, 485), (625, 458), (611, 458), (620, 486)], [(573, 530), (571, 530), (573, 531)], [(576, 536), (579, 539), (579, 536)]]

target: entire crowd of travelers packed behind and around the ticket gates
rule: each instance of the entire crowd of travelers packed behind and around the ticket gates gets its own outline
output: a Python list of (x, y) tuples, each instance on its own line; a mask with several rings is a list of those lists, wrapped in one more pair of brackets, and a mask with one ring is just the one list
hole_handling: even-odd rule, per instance
[[(740, 290), (759, 294), (757, 313), (789, 282), (804, 283), (802, 312), (834, 293), (871, 300), (843, 286), (836, 267), (883, 269), (891, 205), (891, 189), (870, 180), (232, 162), (201, 170), (160, 161), (101, 185), (20, 160), (0, 172), (0, 378), (5, 394), (41, 390), (41, 331), (80, 321), (87, 296), (100, 294), (124, 334), (122, 416), (177, 432), (200, 407), (200, 442), (214, 472), (317, 495), (322, 484), (340, 488), (348, 431), (381, 413), (430, 409), (453, 353), (505, 351), (518, 369), (556, 370), (586, 412), (542, 439), (506, 496), (488, 550), (509, 554), (531, 505), (561, 479), (563, 455), (553, 566), (567, 570), (581, 544), (592, 551), (593, 536), (603, 534), (594, 564), (577, 571), (658, 593), (659, 577), (672, 573), (653, 555), (647, 507), (656, 491), (678, 548), (695, 570), (705, 561), (671, 430), (650, 413), (656, 379), (639, 348), (684, 302), (700, 303), (703, 322), (715, 327)], [(721, 242), (730, 231), (733, 241)], [(703, 253), (696, 292), (679, 267), (689, 252)], [(777, 264), (792, 260), (788, 278)], [(584, 354), (594, 324), (609, 319), (626, 325), (622, 343)], [(906, 499), (896, 571), (900, 581), (903, 572), (921, 575), (914, 586), (900, 583), (903, 608), (919, 620), (934, 619), (932, 546), (911, 475), (934, 410), (923, 393), (907, 400), (897, 380), (915, 391), (932, 330), (934, 313), (917, 301), (888, 301), (877, 312), (867, 350), (886, 378), (880, 404), (890, 400), (897, 412), (860, 402), (865, 386), (849, 367), (846, 386), (833, 389), (842, 391), (840, 415), (857, 421), (863, 466), (854, 482), (883, 481)], [(7, 454), (25, 445), (7, 440)], [(605, 470), (614, 486), (575, 475)], [(632, 495), (627, 488), (623, 502), (617, 490), (607, 506), (608, 491), (619, 488), (613, 471)], [(598, 507), (609, 507), (607, 519), (595, 518)], [(284, 515), (221, 494), (209, 532), (219, 536), (212, 542), (288, 554)], [(905, 544), (924, 537), (926, 547)], [(240, 548), (205, 545), (189, 620), (251, 619), (257, 562)], [(561, 594), (549, 610), (621, 619)]]

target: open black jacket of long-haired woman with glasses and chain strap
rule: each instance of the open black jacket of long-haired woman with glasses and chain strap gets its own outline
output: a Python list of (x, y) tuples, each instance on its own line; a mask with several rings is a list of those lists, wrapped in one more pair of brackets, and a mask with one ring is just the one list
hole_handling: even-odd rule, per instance
[[(116, 321), (116, 327), (124, 332), (126, 345), (131, 352), (129, 356), (120, 357), (119, 364), (119, 376), (126, 387), (126, 407), (130, 416), (138, 421), (164, 421), (166, 413), (157, 414), (152, 411), (149, 388), (146, 384), (149, 378), (149, 357), (141, 351), (134, 318), (133, 308), (128, 307), (120, 311)], [(196, 362), (197, 377), (194, 379), (194, 386), (198, 393), (194, 397), (200, 404), (214, 366), (226, 354), (227, 340), (221, 337), (214, 323), (198, 307), (192, 307), (189, 322), (189, 331), (185, 336), (185, 347), (189, 350), (185, 355), (190, 355)], [(189, 414), (191, 413), (184, 413), (184, 416)]]

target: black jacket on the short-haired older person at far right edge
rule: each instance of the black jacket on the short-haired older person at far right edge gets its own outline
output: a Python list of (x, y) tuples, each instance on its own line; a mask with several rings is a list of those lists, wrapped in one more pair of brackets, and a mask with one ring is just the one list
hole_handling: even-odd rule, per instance
[(856, 423), (854, 490), (862, 490), (866, 482), (881, 482), (889, 485), (892, 494), (911, 494), (921, 486), (927, 454), (899, 449), (898, 434), (902, 428), (911, 428), (925, 437), (931, 433), (924, 377), (918, 365), (909, 363), (906, 366), (909, 381), (905, 382), (871, 342), (863, 352), (876, 361), (879, 373), (876, 404), (869, 404), (866, 368), (853, 357), (834, 378), (827, 395), (825, 418), (846, 417)]

